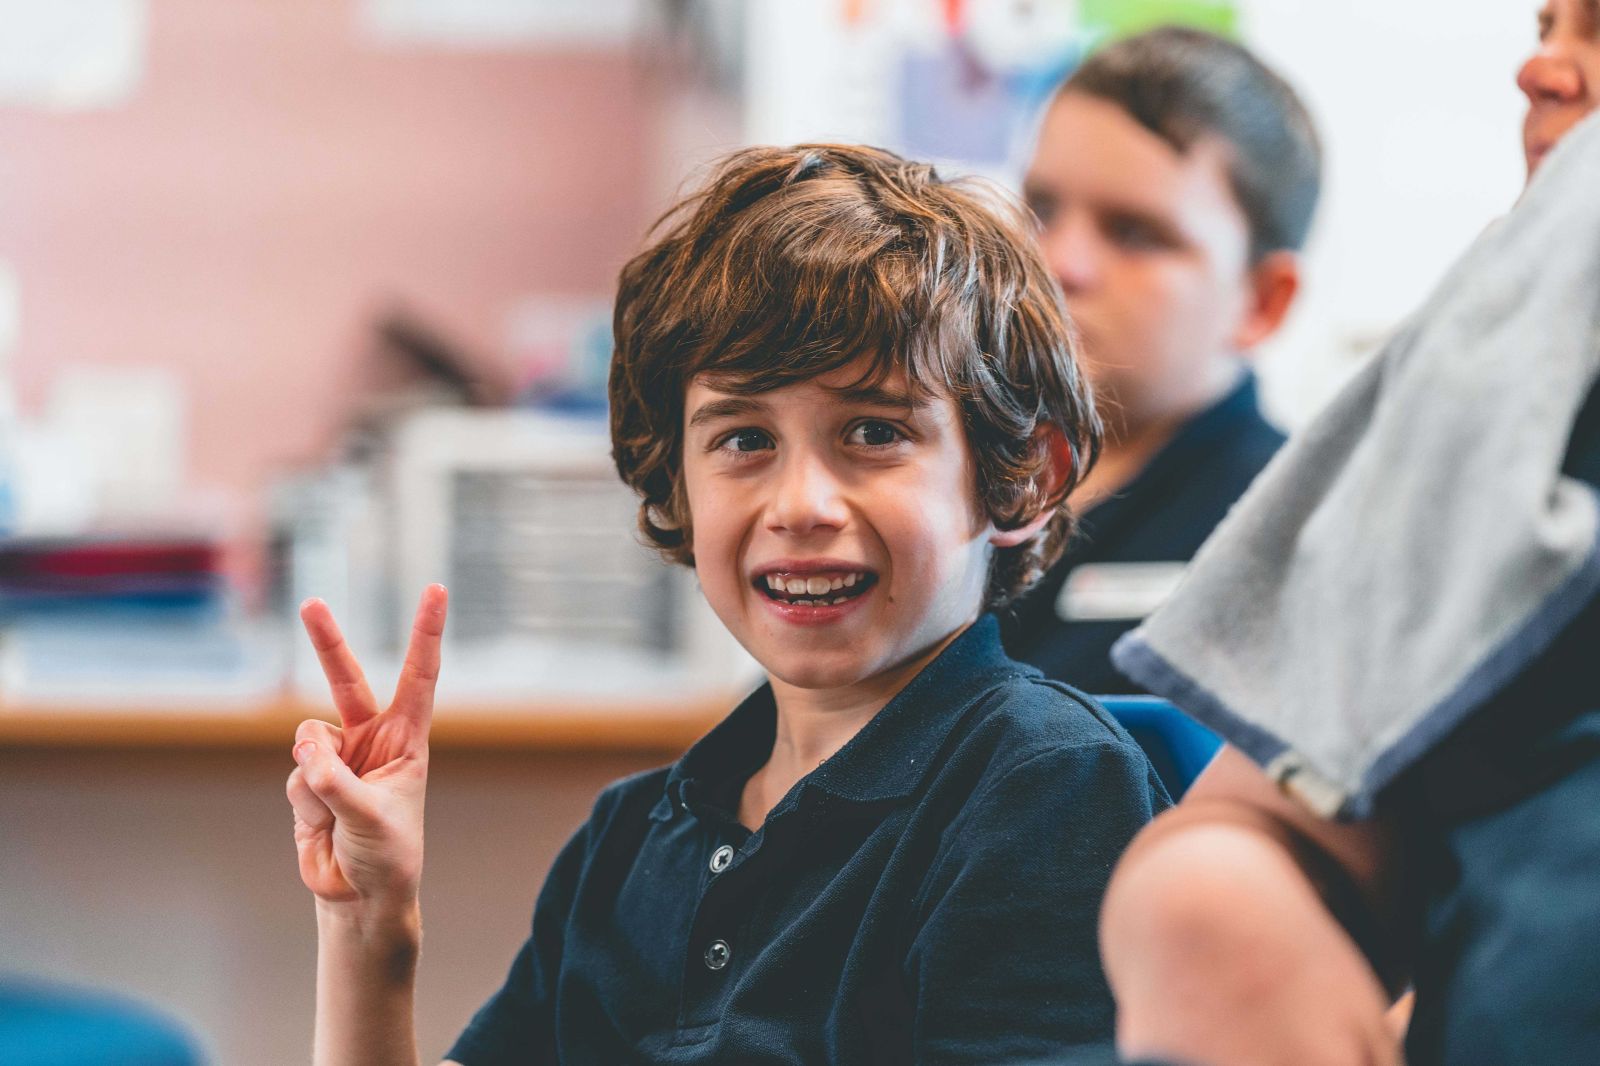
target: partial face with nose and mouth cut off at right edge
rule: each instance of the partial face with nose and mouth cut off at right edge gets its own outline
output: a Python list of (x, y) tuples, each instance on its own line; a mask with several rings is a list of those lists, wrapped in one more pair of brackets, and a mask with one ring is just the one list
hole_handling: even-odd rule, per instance
[(1522, 64), (1528, 98), (1522, 146), (1528, 174), (1600, 104), (1600, 0), (1550, 0), (1539, 11), (1539, 50)]

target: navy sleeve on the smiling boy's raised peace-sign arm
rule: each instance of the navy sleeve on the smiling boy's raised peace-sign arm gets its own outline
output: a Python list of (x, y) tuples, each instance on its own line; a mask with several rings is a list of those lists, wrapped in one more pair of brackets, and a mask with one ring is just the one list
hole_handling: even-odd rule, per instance
[(589, 856), (590, 826), (562, 848), (533, 911), (533, 932), (506, 983), (472, 1016), (445, 1055), (462, 1066), (555, 1066), (555, 983), (566, 917)]

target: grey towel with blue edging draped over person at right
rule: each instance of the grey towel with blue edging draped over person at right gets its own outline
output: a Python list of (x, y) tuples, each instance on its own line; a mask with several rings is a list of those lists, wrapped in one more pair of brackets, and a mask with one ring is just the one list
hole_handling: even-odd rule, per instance
[(1597, 367), (1592, 115), (1114, 661), (1312, 810), (1366, 815), (1600, 589), (1600, 503), (1560, 472)]

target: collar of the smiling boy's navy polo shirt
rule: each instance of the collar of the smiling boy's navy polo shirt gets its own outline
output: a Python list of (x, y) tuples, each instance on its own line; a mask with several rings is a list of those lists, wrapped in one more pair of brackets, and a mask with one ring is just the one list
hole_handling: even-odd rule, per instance
[[(1037, 671), (1006, 656), (997, 619), (982, 615), (802, 784), (862, 804), (910, 795), (978, 698), (1022, 674)], [(686, 808), (707, 784), (747, 779), (771, 755), (776, 730), (773, 690), (762, 685), (672, 767), (653, 816)]]

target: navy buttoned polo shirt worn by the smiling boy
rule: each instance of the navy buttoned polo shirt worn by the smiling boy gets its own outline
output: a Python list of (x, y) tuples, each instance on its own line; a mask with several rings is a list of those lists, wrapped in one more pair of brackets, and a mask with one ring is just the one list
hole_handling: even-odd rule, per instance
[(984, 616), (749, 832), (774, 735), (762, 687), (606, 787), (450, 1058), (1011, 1063), (1110, 1036), (1096, 916), (1168, 800), (1099, 706)]

